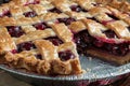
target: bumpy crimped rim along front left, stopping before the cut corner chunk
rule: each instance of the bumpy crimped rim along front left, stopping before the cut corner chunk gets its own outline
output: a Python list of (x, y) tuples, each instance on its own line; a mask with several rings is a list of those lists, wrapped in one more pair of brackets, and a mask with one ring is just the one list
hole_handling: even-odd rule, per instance
[(48, 61), (39, 60), (34, 55), (28, 54), (25, 56), (23, 54), (13, 55), (8, 53), (5, 55), (5, 59), (8, 63), (14, 68), (26, 69), (28, 71), (38, 72), (40, 74), (49, 74), (51, 68)]

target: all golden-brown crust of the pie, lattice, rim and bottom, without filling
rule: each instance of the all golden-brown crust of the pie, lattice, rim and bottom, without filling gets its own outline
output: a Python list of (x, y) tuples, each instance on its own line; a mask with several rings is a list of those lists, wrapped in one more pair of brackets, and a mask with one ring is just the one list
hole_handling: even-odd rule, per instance
[[(36, 4), (37, 2), (38, 4)], [(72, 5), (81, 6), (84, 11), (75, 12), (70, 9)], [(49, 12), (55, 8), (62, 13)], [(5, 16), (8, 12), (11, 13), (10, 17)], [(24, 13), (27, 12), (36, 12), (37, 16), (25, 17)], [(121, 20), (115, 20), (109, 15)], [(98, 39), (114, 40), (116, 43), (128, 42), (130, 41), (129, 15), (130, 3), (126, 0), (12, 0), (0, 6), (0, 55), (5, 54), (5, 58), (0, 58), (0, 63), (8, 63), (20, 69), (24, 68), (40, 74), (79, 74), (82, 69), (76, 44), (73, 42), (73, 32), (77, 33), (87, 29), (92, 37)], [(66, 26), (57, 20), (57, 18), (66, 19), (68, 17), (75, 18), (77, 22)], [(52, 28), (38, 30), (35, 27), (38, 23), (47, 23)], [(9, 29), (4, 28), (6, 26), (21, 26), (25, 33), (20, 38), (11, 38)], [(39, 27), (42, 29), (43, 26)], [(118, 38), (107, 38), (104, 31), (109, 29)], [(50, 41), (43, 40), (49, 37), (58, 37), (64, 43), (54, 46)], [(16, 54), (11, 53), (11, 51), (17, 49), (17, 44), (24, 42), (32, 42), (37, 48)], [(58, 53), (64, 51), (70, 51), (76, 58), (62, 61)], [(130, 60), (130, 54), (118, 57), (95, 48), (90, 48), (87, 52), (90, 55), (120, 64)], [(41, 55), (42, 58), (38, 59), (37, 55)]]

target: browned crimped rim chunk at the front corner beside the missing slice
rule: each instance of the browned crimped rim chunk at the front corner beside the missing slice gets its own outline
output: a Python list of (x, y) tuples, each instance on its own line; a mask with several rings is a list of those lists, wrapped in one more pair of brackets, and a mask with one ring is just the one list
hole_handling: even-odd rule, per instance
[(52, 61), (53, 72), (56, 74), (80, 74), (82, 73), (78, 59), (70, 59), (68, 61), (61, 61), (55, 59)]

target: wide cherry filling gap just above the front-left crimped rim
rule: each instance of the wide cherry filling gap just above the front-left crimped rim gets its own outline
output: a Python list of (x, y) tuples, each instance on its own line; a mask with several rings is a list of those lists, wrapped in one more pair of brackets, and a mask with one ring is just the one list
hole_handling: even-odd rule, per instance
[(36, 48), (35, 44), (32, 42), (24, 42), (17, 45), (17, 52), (21, 53), (23, 51), (30, 51), (32, 48)]

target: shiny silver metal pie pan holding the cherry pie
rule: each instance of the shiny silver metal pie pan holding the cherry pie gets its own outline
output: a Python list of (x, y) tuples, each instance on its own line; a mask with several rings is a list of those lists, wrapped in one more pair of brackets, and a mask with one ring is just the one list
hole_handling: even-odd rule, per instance
[(116, 80), (117, 76), (130, 73), (130, 63), (115, 66), (90, 56), (80, 56), (80, 61), (82, 69), (87, 71), (80, 75), (43, 76), (11, 69), (4, 64), (0, 64), (0, 69), (6, 71), (18, 80), (36, 86), (80, 86), (80, 83), (86, 83), (87, 85), (88, 82)]

